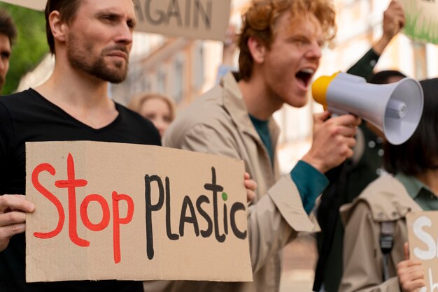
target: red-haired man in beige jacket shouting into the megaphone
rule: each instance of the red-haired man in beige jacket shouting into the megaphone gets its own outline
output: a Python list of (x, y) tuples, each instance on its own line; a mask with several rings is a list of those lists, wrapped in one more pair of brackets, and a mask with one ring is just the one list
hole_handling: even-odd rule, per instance
[(169, 291), (277, 292), (281, 252), (299, 231), (314, 231), (306, 212), (327, 186), (323, 175), (353, 154), (360, 119), (316, 115), (313, 143), (291, 173), (281, 177), (276, 158), (283, 104), (307, 103), (321, 47), (334, 37), (330, 0), (252, 1), (239, 35), (239, 73), (228, 73), (164, 133), (164, 145), (242, 159), (258, 184), (248, 212), (254, 282), (178, 282)]

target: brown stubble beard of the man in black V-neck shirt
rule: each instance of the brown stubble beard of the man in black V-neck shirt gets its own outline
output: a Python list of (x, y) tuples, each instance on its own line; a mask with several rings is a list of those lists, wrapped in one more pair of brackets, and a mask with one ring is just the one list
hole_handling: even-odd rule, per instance
[(67, 58), (73, 68), (79, 69), (96, 78), (111, 83), (120, 83), (127, 77), (128, 61), (115, 61), (113, 66), (108, 66), (105, 56), (108, 52), (119, 50), (127, 52), (124, 45), (114, 45), (111, 48), (104, 48), (97, 59), (90, 60), (92, 57), (92, 43), (87, 43), (85, 47), (79, 48), (75, 41), (75, 36), (70, 35), (69, 45), (67, 45)]

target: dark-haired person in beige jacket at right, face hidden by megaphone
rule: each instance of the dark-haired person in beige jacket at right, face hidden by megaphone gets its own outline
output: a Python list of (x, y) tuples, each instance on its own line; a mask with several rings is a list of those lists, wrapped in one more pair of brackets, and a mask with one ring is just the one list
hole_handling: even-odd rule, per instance
[[(407, 260), (404, 247), (407, 212), (438, 210), (438, 79), (420, 83), (424, 108), (418, 128), (402, 145), (385, 145), (383, 161), (390, 175), (379, 177), (341, 208), (345, 224), (341, 292), (405, 292), (425, 286), (420, 263)], [(393, 243), (381, 242), (382, 235)]]

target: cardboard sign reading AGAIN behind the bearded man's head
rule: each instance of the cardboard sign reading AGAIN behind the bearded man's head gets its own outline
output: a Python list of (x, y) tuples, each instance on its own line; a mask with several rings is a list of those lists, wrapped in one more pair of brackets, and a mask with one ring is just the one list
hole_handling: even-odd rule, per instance
[[(225, 41), (231, 0), (133, 0), (136, 31)], [(46, 0), (3, 2), (44, 10)]]

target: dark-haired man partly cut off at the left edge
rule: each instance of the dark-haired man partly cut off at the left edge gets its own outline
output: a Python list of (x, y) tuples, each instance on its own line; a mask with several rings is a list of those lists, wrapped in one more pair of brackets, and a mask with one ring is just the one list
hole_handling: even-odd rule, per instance
[(15, 38), (17, 38), (17, 28), (12, 17), (6, 10), (0, 9), (0, 92), (9, 71), (9, 59)]

